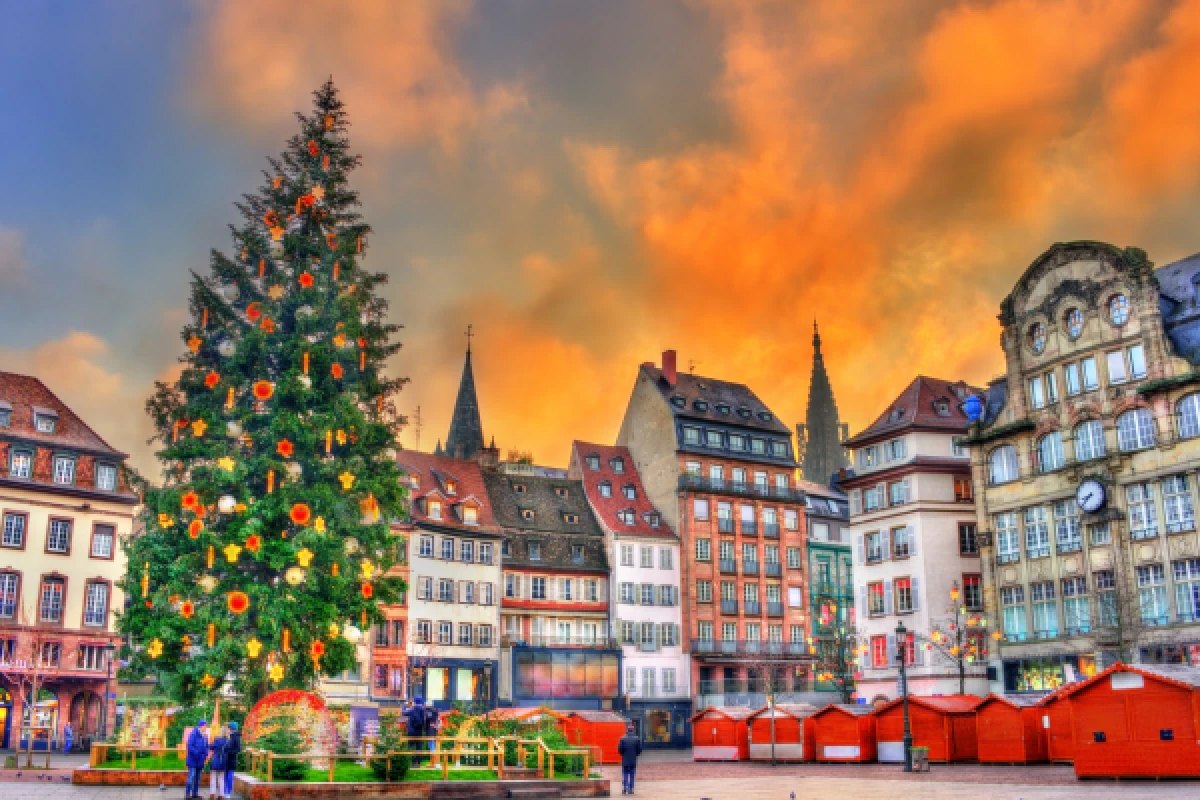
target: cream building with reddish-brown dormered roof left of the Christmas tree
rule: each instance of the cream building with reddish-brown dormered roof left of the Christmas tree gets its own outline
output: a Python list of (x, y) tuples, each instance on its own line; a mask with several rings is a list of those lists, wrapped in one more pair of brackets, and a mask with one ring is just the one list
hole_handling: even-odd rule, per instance
[(0, 746), (23, 720), (35, 748), (68, 720), (77, 741), (113, 730), (107, 646), (138, 503), (125, 461), (37, 378), (0, 372)]

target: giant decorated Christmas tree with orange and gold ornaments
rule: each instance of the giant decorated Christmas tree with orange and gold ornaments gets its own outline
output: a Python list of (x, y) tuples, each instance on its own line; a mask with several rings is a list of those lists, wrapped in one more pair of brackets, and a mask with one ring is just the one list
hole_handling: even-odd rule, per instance
[(370, 228), (347, 184), (360, 157), (332, 83), (296, 114), (232, 257), (193, 275), (182, 374), (146, 402), (163, 485), (126, 546), (128, 674), (192, 702), (251, 699), (354, 664), (403, 585), (384, 577), (403, 513), (391, 397), (400, 349), (362, 271)]

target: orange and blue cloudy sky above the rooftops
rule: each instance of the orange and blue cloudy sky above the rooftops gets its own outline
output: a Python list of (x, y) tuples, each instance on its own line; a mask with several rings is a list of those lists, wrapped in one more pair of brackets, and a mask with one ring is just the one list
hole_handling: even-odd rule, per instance
[[(37, 4), (0, 30), (0, 368), (152, 469), (142, 403), (332, 74), (421, 407), (564, 464), (665, 348), (803, 420), (985, 381), (1055, 241), (1200, 251), (1200, 0)], [(412, 428), (404, 432), (414, 444)]]

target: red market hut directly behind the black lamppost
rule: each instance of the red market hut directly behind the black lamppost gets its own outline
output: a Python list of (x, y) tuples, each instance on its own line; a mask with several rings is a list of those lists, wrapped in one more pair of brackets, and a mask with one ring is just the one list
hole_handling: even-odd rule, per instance
[[(929, 747), (931, 762), (974, 760), (978, 754), (973, 694), (910, 697), (908, 718), (913, 747)], [(896, 698), (875, 710), (876, 745), (881, 762), (904, 760), (904, 700)]]

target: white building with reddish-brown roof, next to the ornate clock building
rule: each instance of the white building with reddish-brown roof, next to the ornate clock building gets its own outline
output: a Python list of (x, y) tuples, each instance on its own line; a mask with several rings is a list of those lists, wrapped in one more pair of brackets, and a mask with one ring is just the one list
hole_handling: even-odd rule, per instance
[[(982, 570), (960, 405), (961, 381), (918, 377), (869, 428), (850, 439), (850, 495), (859, 698), (899, 696), (896, 627), (912, 694), (986, 694), (982, 657), (960, 664), (946, 637), (964, 630), (985, 655)], [(972, 620), (966, 625), (966, 620)]]

